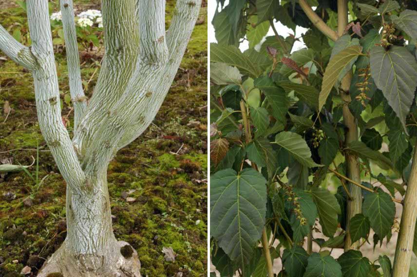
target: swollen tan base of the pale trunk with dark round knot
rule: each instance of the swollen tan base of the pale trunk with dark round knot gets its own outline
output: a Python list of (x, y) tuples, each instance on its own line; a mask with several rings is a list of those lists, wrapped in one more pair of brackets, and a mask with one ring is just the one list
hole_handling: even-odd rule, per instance
[(136, 250), (127, 242), (109, 242), (104, 255), (72, 255), (67, 242), (43, 264), (38, 277), (141, 277)]

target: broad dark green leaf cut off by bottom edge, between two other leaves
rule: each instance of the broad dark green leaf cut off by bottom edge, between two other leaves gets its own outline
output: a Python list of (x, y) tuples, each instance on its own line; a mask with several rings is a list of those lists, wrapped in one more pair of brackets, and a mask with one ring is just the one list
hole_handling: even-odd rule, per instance
[(308, 257), (308, 265), (303, 277), (341, 277), (341, 266), (332, 256), (313, 253)]

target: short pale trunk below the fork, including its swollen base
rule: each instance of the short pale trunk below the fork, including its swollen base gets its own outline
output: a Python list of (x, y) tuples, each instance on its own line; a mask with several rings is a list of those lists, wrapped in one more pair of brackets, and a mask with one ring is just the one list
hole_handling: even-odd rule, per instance
[(113, 234), (106, 173), (91, 178), (87, 186), (84, 192), (67, 187), (67, 238), (38, 277), (139, 277), (136, 251)]

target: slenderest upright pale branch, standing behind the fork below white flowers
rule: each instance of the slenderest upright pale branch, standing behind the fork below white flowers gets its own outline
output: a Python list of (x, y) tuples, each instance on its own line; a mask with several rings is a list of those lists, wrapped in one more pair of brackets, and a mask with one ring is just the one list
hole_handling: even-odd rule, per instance
[(74, 105), (74, 131), (76, 132), (78, 123), (81, 121), (85, 110), (87, 109), (87, 99), (84, 95), (81, 82), (73, 0), (60, 0), (60, 5), (65, 51), (67, 54), (70, 94)]

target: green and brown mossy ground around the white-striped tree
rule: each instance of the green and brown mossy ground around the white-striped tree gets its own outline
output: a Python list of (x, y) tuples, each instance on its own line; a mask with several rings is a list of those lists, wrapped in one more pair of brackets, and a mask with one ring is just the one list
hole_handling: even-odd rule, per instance
[[(7, 3), (6, 3), (7, 2)], [(58, 2), (58, 1), (52, 1)], [(99, 1), (75, 1), (79, 9), (99, 8)], [(81, 2), (81, 3), (80, 3)], [(1, 5), (7, 4), (7, 6)], [(25, 12), (9, 1), (0, 0), (0, 23), (13, 33), (16, 26), (26, 35)], [(167, 1), (167, 24), (174, 0)], [(142, 275), (152, 277), (207, 276), (207, 9), (203, 23), (196, 26), (175, 81), (152, 125), (132, 144), (119, 151), (108, 171), (114, 234), (137, 250)], [(65, 51), (56, 49), (62, 98), (68, 92)], [(0, 56), (4, 54), (0, 52)], [(91, 95), (98, 76), (99, 60), (82, 56), (82, 79)], [(93, 76), (94, 75), (94, 76)], [(92, 77), (93, 76), (93, 77)], [(12, 112), (7, 120), (3, 105)], [(72, 113), (63, 101), (62, 115)], [(190, 121), (200, 121), (200, 123)], [(14, 62), (0, 61), (0, 160), (32, 163), (39, 152), (39, 178), (48, 175), (38, 190), (24, 172), (0, 178), (0, 277), (19, 276), (29, 265), (38, 268), (66, 236), (65, 181), (40, 134), (32, 77)], [(35, 175), (35, 166), (29, 169)], [(126, 191), (136, 198), (127, 203)], [(16, 198), (3, 196), (10, 192)], [(23, 200), (33, 195), (33, 205)], [(162, 247), (172, 247), (176, 260), (164, 260)], [(16, 263), (14, 260), (18, 260)]]

